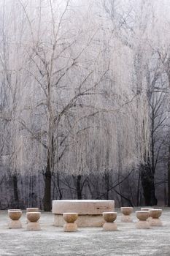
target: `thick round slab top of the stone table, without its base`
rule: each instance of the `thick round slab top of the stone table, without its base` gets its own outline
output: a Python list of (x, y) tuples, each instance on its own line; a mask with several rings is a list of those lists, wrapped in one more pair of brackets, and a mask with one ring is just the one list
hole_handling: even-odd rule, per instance
[(114, 200), (53, 200), (53, 214), (76, 212), (80, 215), (101, 215), (114, 211)]

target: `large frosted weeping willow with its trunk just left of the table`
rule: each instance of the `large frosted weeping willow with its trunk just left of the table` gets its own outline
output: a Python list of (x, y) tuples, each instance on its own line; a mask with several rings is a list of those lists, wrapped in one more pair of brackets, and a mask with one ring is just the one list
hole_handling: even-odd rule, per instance
[(45, 211), (54, 173), (127, 171), (148, 150), (146, 85), (140, 93), (134, 85), (133, 51), (114, 20), (83, 3), (4, 1), (2, 51), (13, 57), (1, 62), (1, 79), (5, 72), (17, 88), (9, 155), (13, 170), (43, 172)]

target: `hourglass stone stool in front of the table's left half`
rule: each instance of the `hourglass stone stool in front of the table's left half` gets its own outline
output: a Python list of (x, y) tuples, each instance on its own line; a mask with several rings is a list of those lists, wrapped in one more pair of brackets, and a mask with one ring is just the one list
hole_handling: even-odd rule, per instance
[(63, 225), (63, 231), (65, 232), (74, 232), (77, 231), (77, 224), (74, 223), (77, 220), (77, 213), (63, 213), (63, 219), (65, 224)]

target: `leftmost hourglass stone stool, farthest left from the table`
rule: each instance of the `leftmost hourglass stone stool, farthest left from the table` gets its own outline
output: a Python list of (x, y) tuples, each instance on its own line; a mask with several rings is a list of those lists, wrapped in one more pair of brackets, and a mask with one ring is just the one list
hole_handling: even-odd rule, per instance
[(10, 218), (9, 228), (21, 228), (22, 224), (20, 222), (20, 217), (22, 216), (22, 211), (18, 209), (8, 210), (8, 216)]

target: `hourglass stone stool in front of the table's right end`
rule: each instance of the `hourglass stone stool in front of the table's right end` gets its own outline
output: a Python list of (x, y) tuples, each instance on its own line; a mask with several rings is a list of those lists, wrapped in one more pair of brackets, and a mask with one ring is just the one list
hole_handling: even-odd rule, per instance
[(115, 231), (117, 230), (117, 224), (115, 223), (115, 219), (117, 218), (117, 212), (104, 212), (103, 213), (104, 220), (106, 221), (103, 225), (103, 229), (105, 231)]

